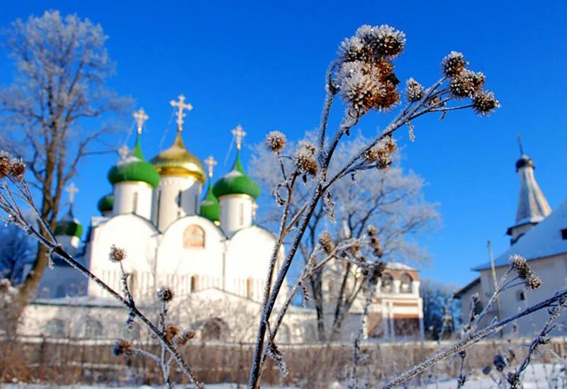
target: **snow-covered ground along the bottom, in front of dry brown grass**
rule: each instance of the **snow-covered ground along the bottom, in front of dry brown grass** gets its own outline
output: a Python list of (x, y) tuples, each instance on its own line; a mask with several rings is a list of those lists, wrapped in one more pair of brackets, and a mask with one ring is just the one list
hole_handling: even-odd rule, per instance
[[(561, 371), (562, 366), (553, 365), (551, 363), (533, 363), (529, 365), (524, 373), (523, 388), (524, 389), (544, 389), (544, 388), (567, 388), (567, 376), (566, 373)], [(495, 380), (500, 380), (502, 376), (497, 376), (494, 372), (493, 378)], [(488, 389), (488, 388), (498, 388), (495, 380), (491, 379), (489, 376), (472, 376), (470, 377), (465, 388), (470, 389)], [(507, 388), (508, 385), (501, 386), (502, 388)], [(50, 388), (65, 388), (65, 389), (98, 389), (106, 388), (106, 386), (96, 386), (96, 385), (69, 385), (69, 386), (57, 386), (57, 385), (32, 385), (32, 384), (4, 384), (1, 385), (2, 388), (9, 389), (50, 389)], [(422, 385), (417, 387), (415, 385), (409, 386), (411, 388), (427, 388), (427, 389), (453, 389), (456, 388), (456, 379), (451, 380), (434, 380), (427, 385)], [(117, 387), (118, 388), (118, 387)], [(164, 388), (164, 386), (120, 386), (120, 389), (150, 389), (150, 388)], [(177, 385), (175, 388), (184, 388), (182, 385)], [(206, 388), (210, 389), (237, 389), (237, 388), (247, 388), (247, 385), (235, 383), (220, 383), (220, 384), (210, 384), (206, 385)], [(262, 386), (265, 389), (295, 389), (291, 386)], [(330, 385), (330, 389), (344, 388), (344, 385), (340, 383), (335, 383)]]

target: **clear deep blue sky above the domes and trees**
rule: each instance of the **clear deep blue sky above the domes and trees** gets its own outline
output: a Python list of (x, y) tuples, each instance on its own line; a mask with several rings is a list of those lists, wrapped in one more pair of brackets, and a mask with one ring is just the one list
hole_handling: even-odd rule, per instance
[[(396, 71), (403, 80), (430, 83), (444, 55), (464, 52), (503, 108), (485, 119), (461, 112), (442, 122), (418, 120), (415, 142), (405, 133), (400, 137), (404, 166), (429, 183), (427, 200), (441, 203), (443, 227), (424, 239), (434, 261), (422, 273), (462, 285), (474, 276), (469, 269), (486, 261), (487, 239), (495, 254), (507, 247), (505, 230), (514, 221), (518, 195), (517, 131), (551, 207), (567, 198), (567, 12), (562, 1), (433, 3), (6, 1), (0, 26), (46, 8), (101, 23), (118, 63), (111, 86), (150, 115), (146, 155), (172, 142), (168, 101), (183, 93), (194, 106), (186, 118), (186, 144), (201, 159), (213, 154), (221, 162), (218, 174), (228, 169), (223, 162), (238, 123), (248, 144), (269, 130), (298, 138), (317, 125), (327, 64), (340, 41), (363, 23), (405, 31), (408, 43)], [(12, 74), (2, 60), (0, 84), (9, 84)], [(359, 129), (374, 133), (386, 119), (373, 114)], [(120, 135), (116, 145), (124, 139)], [(106, 156), (82, 164), (76, 213), (85, 225), (98, 198), (111, 191), (106, 171), (115, 161)]]

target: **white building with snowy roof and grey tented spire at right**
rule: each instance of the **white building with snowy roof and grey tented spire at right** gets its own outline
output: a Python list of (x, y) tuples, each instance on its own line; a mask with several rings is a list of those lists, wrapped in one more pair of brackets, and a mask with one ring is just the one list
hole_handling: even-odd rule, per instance
[[(520, 198), (517, 205), (516, 220), (507, 229), (510, 235), (510, 248), (494, 259), (494, 274), (490, 262), (476, 266), (478, 278), (461, 289), (456, 296), (461, 299), (462, 320), (468, 321), (471, 309), (471, 296), (478, 293), (480, 312), (494, 293), (494, 278), (500, 281), (510, 265), (510, 256), (519, 254), (528, 260), (529, 266), (541, 278), (540, 288), (532, 291), (523, 286), (511, 288), (501, 293), (498, 304), (490, 308), (483, 324), (489, 324), (494, 317), (504, 319), (520, 310), (551, 297), (567, 286), (567, 201), (553, 212), (543, 191), (534, 176), (534, 161), (523, 153), (516, 162), (520, 176)], [(539, 332), (549, 317), (546, 310), (536, 312), (508, 326), (505, 332), (517, 330), (522, 336)], [(557, 322), (565, 324), (565, 314)], [(564, 334), (564, 329), (561, 331)]]

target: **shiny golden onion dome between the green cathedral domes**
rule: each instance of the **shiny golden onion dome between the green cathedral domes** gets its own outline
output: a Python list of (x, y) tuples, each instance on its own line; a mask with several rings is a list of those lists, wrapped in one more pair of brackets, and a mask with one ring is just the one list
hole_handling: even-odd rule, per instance
[(179, 130), (173, 145), (157, 154), (150, 163), (161, 176), (193, 176), (202, 183), (206, 180), (203, 164), (186, 149)]

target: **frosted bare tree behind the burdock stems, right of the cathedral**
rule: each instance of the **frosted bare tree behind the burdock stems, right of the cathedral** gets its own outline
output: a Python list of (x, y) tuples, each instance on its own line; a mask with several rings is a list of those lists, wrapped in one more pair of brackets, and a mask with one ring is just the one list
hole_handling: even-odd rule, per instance
[[(303, 141), (313, 140), (308, 134)], [(342, 143), (337, 148), (331, 169), (337, 169), (357, 150), (370, 140), (363, 135)], [(289, 143), (282, 152), (294, 150), (296, 144)], [(439, 219), (434, 203), (428, 203), (422, 194), (424, 181), (412, 171), (400, 167), (400, 154), (393, 156), (393, 165), (388, 169), (367, 169), (355, 176), (344, 176), (337, 180), (332, 192), (332, 202), (336, 203), (332, 215), (327, 212), (327, 204), (320, 202), (313, 217), (309, 220), (305, 236), (299, 244), (299, 254), (304, 263), (318, 244), (318, 237), (328, 230), (334, 242), (340, 243), (352, 237), (361, 238), (369, 225), (379, 231), (383, 248), (383, 259), (419, 263), (427, 259), (428, 254), (414, 239), (416, 235), (429, 231)], [(286, 169), (291, 170), (293, 161), (283, 159)], [(273, 193), (278, 187), (280, 177), (274, 174), (279, 169), (279, 161), (265, 145), (254, 147), (251, 171), (255, 178)], [(362, 188), (361, 186), (364, 186)], [(291, 201), (291, 212), (296, 213), (308, 200), (313, 181), (295, 188)], [(274, 225), (279, 218), (281, 208), (276, 202), (264, 213), (264, 222)], [(336, 220), (336, 221), (335, 221)], [(321, 341), (335, 340), (339, 336), (344, 317), (361, 292), (362, 283), (357, 278), (357, 269), (352, 264), (346, 266), (325, 266), (324, 269), (309, 278), (310, 298), (317, 311), (318, 337)], [(326, 274), (326, 276), (325, 276)], [(337, 285), (331, 294), (324, 292), (323, 278), (332, 279)], [(328, 288), (327, 288), (328, 289)], [(328, 312), (327, 312), (328, 311)], [(332, 316), (330, 329), (325, 328), (325, 317)]]

